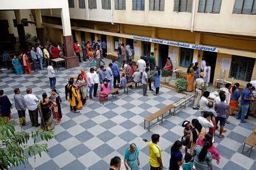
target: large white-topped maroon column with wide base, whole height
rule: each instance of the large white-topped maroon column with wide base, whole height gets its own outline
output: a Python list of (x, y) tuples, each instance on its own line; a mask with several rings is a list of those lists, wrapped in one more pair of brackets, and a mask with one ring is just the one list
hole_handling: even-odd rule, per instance
[(79, 58), (74, 54), (73, 36), (71, 33), (71, 23), (69, 18), (68, 1), (63, 1), (64, 7), (61, 9), (61, 22), (63, 29), (64, 52), (66, 59), (67, 69), (79, 66)]

